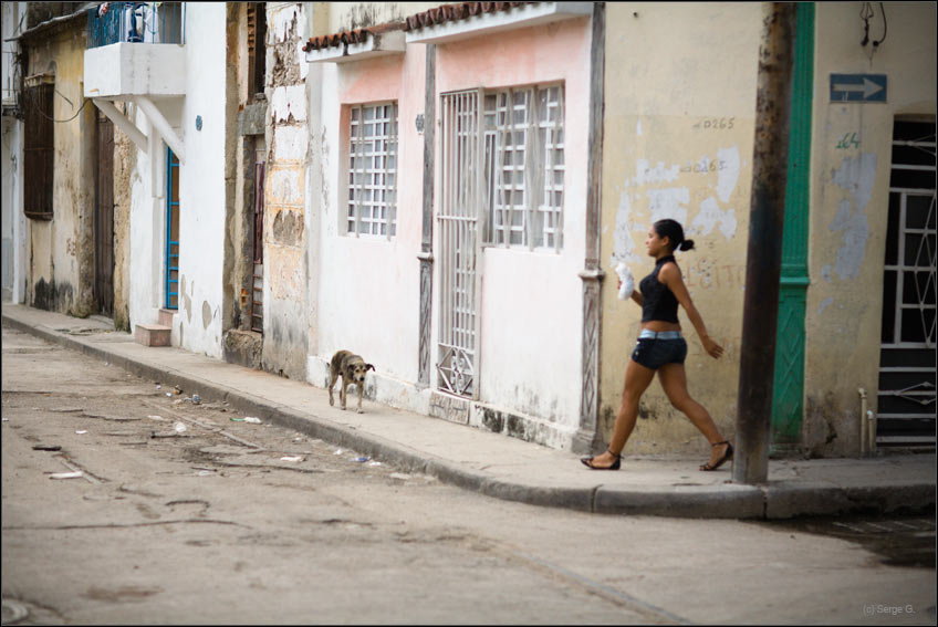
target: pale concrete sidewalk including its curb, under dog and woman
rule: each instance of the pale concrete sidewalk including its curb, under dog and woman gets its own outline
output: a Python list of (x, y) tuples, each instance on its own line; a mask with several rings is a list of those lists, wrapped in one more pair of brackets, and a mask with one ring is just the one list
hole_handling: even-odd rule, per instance
[[(781, 519), (810, 514), (934, 510), (935, 453), (867, 459), (770, 460), (769, 482), (731, 482), (730, 464), (700, 472), (699, 459), (624, 457), (623, 469), (591, 471), (577, 456), (503, 435), (364, 400), (364, 414), (330, 407), (305, 382), (174, 347), (146, 347), (102, 316), (85, 320), (2, 305), (3, 324), (81, 351), (205, 400), (354, 449), (411, 472), (535, 505), (601, 513)], [(337, 396), (337, 394), (336, 394)]]

